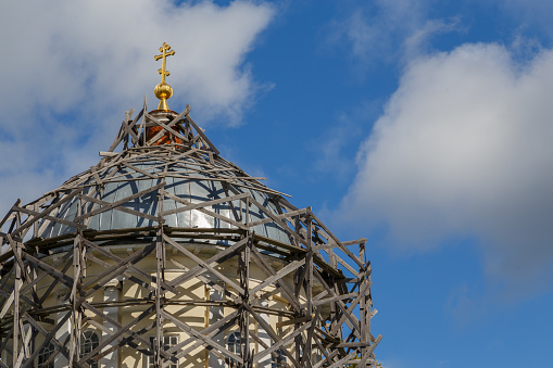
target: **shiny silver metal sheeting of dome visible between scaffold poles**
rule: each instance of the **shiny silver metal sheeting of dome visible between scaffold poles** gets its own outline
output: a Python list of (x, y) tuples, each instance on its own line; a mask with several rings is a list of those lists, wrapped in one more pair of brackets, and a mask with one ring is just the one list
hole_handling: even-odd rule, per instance
[[(155, 151), (154, 151), (155, 152)], [(159, 152), (155, 152), (159, 154)], [(136, 162), (135, 162), (136, 161)], [(241, 193), (249, 193), (255, 201), (261, 203), (272, 214), (278, 215), (278, 208), (275, 203), (271, 201), (271, 196), (257, 189), (254, 189), (251, 183), (246, 179), (239, 178), (235, 172), (225, 170), (218, 172), (225, 176), (225, 180), (217, 180), (213, 175), (202, 173), (202, 163), (193, 160), (190, 156), (185, 156), (178, 160), (169, 158), (171, 162), (161, 161), (159, 157), (151, 157), (148, 155), (140, 155), (135, 160), (124, 161), (127, 165), (115, 166), (116, 170), (105, 169), (103, 173), (98, 173), (100, 180), (105, 180), (103, 183), (98, 183), (95, 176), (88, 178), (80, 185), (83, 188), (81, 196), (88, 196), (95, 193), (96, 198), (105, 203), (116, 203), (122, 199), (133, 196), (141, 191), (155, 187), (165, 181), (164, 191), (173, 194), (184, 201), (192, 204), (203, 203), (217, 199), (229, 196), (228, 189), (225, 189), (225, 183), (232, 181), (235, 188)], [(142, 172), (142, 173), (141, 173)], [(86, 176), (86, 172), (79, 174), (77, 177)], [(150, 175), (148, 175), (150, 174)], [(156, 175), (163, 175), (155, 178)], [(110, 177), (111, 179), (109, 179)], [(120, 181), (121, 180), (121, 181)], [(177, 202), (174, 199), (165, 198), (163, 204), (159, 203), (158, 190), (151, 191), (144, 195), (133, 199), (131, 201), (122, 204), (123, 207), (130, 211), (139, 212), (148, 215), (141, 217), (138, 214), (130, 212), (122, 212), (120, 210), (108, 210), (93, 215), (87, 228), (91, 230), (104, 231), (124, 228), (137, 227), (151, 227), (156, 225), (153, 217), (160, 217), (161, 208), (163, 208), (162, 218), (164, 225), (168, 227), (178, 228), (236, 228), (235, 225), (227, 223), (219, 218), (205, 215), (199, 210), (190, 210), (185, 212), (171, 213), (171, 210), (183, 208), (185, 204)], [(246, 216), (244, 206), (240, 206), (239, 201), (231, 202), (235, 211), (240, 211), (242, 216)], [(93, 203), (87, 203), (86, 207), (79, 210), (79, 196), (75, 195), (71, 201), (67, 201), (54, 215), (56, 218), (73, 221), (78, 213), (86, 213), (93, 211)], [(229, 202), (217, 203), (211, 207), (215, 214), (232, 219), (232, 208)], [(240, 208), (241, 210), (237, 210)], [(80, 211), (80, 212), (79, 212)], [(250, 206), (249, 216), (251, 221), (262, 220), (267, 215), (256, 206)], [(60, 223), (45, 220), (48, 223), (40, 233), (41, 238), (52, 238), (63, 236), (75, 231), (75, 228)], [(280, 227), (275, 226), (273, 223), (254, 226), (254, 231), (257, 234), (267, 237), (279, 242), (289, 243), (289, 237)]]

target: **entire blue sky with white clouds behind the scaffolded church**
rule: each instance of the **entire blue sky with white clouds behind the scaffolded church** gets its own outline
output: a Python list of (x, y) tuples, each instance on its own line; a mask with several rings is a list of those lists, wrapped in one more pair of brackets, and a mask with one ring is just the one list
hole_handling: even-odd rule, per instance
[(551, 367), (552, 17), (537, 0), (2, 3), (0, 208), (155, 107), (166, 41), (173, 110), (369, 239), (385, 367)]

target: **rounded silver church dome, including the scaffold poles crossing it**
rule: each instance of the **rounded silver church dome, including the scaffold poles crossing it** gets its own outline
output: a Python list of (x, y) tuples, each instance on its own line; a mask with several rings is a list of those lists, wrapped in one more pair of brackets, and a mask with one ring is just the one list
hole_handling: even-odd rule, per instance
[[(147, 120), (167, 124), (177, 114), (146, 116)], [(237, 229), (260, 223), (252, 228), (256, 234), (289, 244), (281, 227), (273, 221), (263, 224), (284, 213), (276, 201), (280, 194), (221, 157), (214, 145), (205, 142), (203, 131), (193, 131), (189, 120), (187, 113), (173, 124), (178, 142), (162, 135), (150, 144), (137, 141), (120, 154), (103, 153), (98, 165), (54, 190), (56, 201), (64, 203), (50, 216), (64, 221), (45, 219), (40, 238), (73, 233), (75, 223), (91, 231), (148, 228), (160, 220), (168, 228), (199, 229)], [(164, 143), (155, 144), (160, 141)], [(65, 200), (67, 196), (71, 199)]]

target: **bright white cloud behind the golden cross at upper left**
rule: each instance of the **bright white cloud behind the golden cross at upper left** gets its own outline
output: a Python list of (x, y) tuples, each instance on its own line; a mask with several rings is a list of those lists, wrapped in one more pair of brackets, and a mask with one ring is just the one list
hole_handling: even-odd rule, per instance
[[(76, 104), (136, 103), (159, 83), (153, 55), (163, 41), (176, 55), (167, 61), (173, 105), (235, 115), (255, 85), (243, 65), (273, 8), (246, 1), (226, 8), (211, 1), (17, 1), (2, 5), (0, 78), (3, 103), (60, 112)], [(27, 11), (30, 9), (30, 11)], [(25, 14), (25, 16), (17, 16)], [(151, 104), (155, 101), (152, 99)], [(178, 101), (175, 101), (178, 100)], [(237, 116), (234, 116), (235, 118)]]

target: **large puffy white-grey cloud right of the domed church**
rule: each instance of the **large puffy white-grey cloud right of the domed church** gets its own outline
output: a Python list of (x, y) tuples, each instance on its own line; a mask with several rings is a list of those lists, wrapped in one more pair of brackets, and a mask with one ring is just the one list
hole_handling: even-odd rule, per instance
[[(364, 142), (342, 211), (397, 246), (476, 237), (488, 275), (531, 292), (552, 281), (553, 51), (520, 65), (498, 45), (409, 64)], [(524, 282), (540, 280), (539, 285)]]

